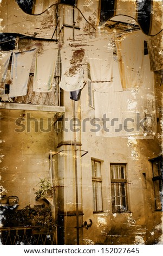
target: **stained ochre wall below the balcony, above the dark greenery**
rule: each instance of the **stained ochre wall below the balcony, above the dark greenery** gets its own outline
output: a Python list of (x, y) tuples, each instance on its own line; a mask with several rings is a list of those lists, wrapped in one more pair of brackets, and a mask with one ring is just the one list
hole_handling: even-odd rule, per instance
[(18, 196), (20, 209), (40, 203), (35, 200), (37, 184), (40, 178), (49, 178), (53, 117), (49, 112), (2, 110), (2, 184), (7, 196)]

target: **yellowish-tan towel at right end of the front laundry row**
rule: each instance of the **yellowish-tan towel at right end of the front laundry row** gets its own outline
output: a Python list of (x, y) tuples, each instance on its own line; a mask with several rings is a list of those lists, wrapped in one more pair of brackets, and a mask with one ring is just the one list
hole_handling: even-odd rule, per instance
[(116, 38), (122, 87), (142, 85), (145, 35), (141, 31), (130, 32)]

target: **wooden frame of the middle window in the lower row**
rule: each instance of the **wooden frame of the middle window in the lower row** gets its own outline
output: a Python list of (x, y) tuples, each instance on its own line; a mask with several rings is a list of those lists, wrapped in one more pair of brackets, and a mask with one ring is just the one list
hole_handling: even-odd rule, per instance
[[(123, 178), (113, 178), (112, 176), (112, 166), (123, 166)], [(118, 175), (120, 175), (118, 170)], [(110, 163), (110, 182), (111, 182), (111, 195), (112, 195), (112, 212), (115, 214), (120, 214), (124, 212), (130, 212), (128, 210), (128, 192), (127, 192), (127, 163)], [(122, 186), (123, 184), (123, 186)], [(119, 186), (116, 186), (119, 185)], [(113, 194), (114, 188), (114, 194)], [(125, 192), (122, 195), (122, 190)], [(119, 192), (119, 194), (117, 193)], [(119, 198), (118, 198), (119, 197)], [(125, 198), (125, 204), (121, 204)], [(120, 201), (120, 205), (116, 205), (116, 202)], [(115, 202), (115, 204), (113, 204)], [(120, 206), (120, 207), (119, 207)], [(124, 206), (124, 208), (123, 208)]]

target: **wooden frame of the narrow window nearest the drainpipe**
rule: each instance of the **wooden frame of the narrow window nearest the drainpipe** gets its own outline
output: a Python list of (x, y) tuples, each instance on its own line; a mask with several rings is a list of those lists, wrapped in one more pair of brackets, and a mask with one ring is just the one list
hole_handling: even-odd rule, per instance
[[(100, 176), (96, 176), (95, 169), (94, 169), (95, 176), (93, 175), (93, 163), (94, 163), (94, 167), (95, 167), (95, 163), (100, 163)], [(93, 214), (96, 214), (99, 212), (103, 212), (101, 161), (92, 158), (91, 167), (92, 167), (92, 187), (93, 187)], [(95, 188), (95, 191), (94, 191), (94, 188)], [(99, 188), (100, 188), (100, 191), (98, 191)], [(99, 198), (101, 198), (101, 201), (99, 200)], [(100, 208), (98, 209), (99, 202), (100, 202)]]

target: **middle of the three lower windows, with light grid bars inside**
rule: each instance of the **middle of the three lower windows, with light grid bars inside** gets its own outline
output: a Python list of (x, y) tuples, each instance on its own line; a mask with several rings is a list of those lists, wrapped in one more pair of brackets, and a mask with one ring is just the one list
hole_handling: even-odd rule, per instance
[(112, 211), (126, 212), (127, 208), (127, 179), (126, 164), (110, 164)]

